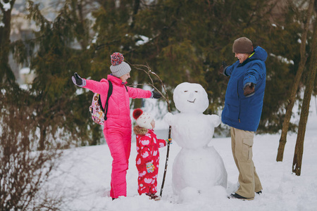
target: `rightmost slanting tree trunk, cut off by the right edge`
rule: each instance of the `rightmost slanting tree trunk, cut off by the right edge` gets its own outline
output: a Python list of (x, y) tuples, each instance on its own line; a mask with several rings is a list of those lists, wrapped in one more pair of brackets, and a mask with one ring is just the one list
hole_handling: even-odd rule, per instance
[(304, 137), (306, 132), (306, 124), (309, 115), (309, 103), (311, 102), (311, 94), (313, 92), (313, 84), (316, 77), (317, 69), (317, 21), (315, 20), (314, 30), (313, 30), (313, 39), (312, 39), (312, 48), (311, 48), (311, 62), (309, 65), (309, 77), (306, 81), (306, 89), (304, 92), (304, 100), (301, 111), (301, 117), (299, 120), (299, 128), (297, 134), (297, 141), (294, 152), (293, 167), (292, 172), (297, 176), (301, 175), (302, 170), (302, 158), (304, 151)]

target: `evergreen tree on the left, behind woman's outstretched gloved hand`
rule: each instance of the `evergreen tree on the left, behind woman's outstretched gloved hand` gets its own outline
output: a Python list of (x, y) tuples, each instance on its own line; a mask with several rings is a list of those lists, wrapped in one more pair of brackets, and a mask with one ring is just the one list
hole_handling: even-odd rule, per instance
[[(61, 131), (65, 136), (70, 134), (72, 139), (87, 140), (91, 132), (89, 124), (87, 92), (75, 95), (76, 87), (71, 81), (74, 72), (84, 72), (90, 68), (89, 51), (74, 49), (76, 40), (82, 47), (88, 43), (88, 35), (79, 31), (82, 20), (77, 19), (76, 7), (73, 1), (59, 11), (54, 22), (49, 22), (40, 13), (38, 5), (30, 2), (29, 18), (39, 25), (35, 33), (35, 56), (30, 59), (30, 68), (35, 70), (36, 77), (32, 83), (32, 106), (35, 113), (32, 118), (39, 129), (38, 149), (44, 150), (51, 144), (56, 144), (55, 135)], [(85, 28), (85, 25), (82, 25)], [(81, 33), (80, 33), (81, 32)], [(86, 37), (86, 38), (85, 38)], [(77, 127), (86, 129), (77, 131)], [(64, 130), (64, 131), (63, 131)], [(99, 133), (100, 134), (100, 133)], [(59, 143), (57, 143), (59, 144)], [(71, 143), (63, 143), (67, 147)], [(82, 145), (86, 143), (82, 142)]]

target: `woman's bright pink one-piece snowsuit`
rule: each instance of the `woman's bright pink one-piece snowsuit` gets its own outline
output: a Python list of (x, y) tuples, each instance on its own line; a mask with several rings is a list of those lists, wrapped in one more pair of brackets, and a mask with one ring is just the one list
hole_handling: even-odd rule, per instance
[[(130, 118), (130, 98), (150, 98), (151, 91), (125, 87), (120, 78), (108, 75), (113, 84), (113, 92), (108, 100), (107, 120), (104, 122), (104, 137), (110, 149), (112, 162), (111, 198), (127, 196), (127, 181), (125, 179), (131, 151), (132, 124)], [(86, 79), (84, 88), (99, 93), (104, 108), (108, 94), (108, 80), (100, 82)]]

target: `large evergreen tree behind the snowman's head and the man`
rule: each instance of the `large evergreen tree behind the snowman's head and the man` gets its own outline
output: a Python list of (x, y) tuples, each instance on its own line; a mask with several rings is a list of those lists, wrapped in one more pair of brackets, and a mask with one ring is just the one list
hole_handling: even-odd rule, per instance
[[(294, 21), (298, 11), (290, 5), (280, 20), (272, 21), (274, 6), (250, 0), (212, 1), (210, 4), (206, 1), (158, 1), (137, 16), (135, 27), (139, 34), (151, 40), (139, 48), (146, 53), (144, 58), (141, 53), (138, 58), (155, 67), (170, 87), (184, 81), (202, 84), (211, 99), (206, 113), (216, 113), (223, 107), (228, 82), (217, 70), (222, 60), (228, 64), (235, 62), (231, 50), (233, 41), (249, 37), (254, 46), (268, 51), (267, 91), (258, 132), (278, 132), (299, 61), (297, 40), (302, 20)], [(283, 58), (293, 60), (294, 65)]]

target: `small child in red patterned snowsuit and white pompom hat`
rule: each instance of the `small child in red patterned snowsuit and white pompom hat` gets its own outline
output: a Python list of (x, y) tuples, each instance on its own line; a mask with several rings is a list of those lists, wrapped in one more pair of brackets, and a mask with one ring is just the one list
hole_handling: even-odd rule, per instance
[[(166, 146), (168, 139), (157, 139), (154, 134), (155, 122), (151, 114), (137, 108), (133, 111), (137, 122), (134, 132), (137, 135), (137, 170), (139, 172), (139, 195), (147, 194), (150, 199), (159, 200), (157, 192), (157, 175), (159, 173), (159, 148)], [(169, 139), (171, 141), (171, 139)]]

